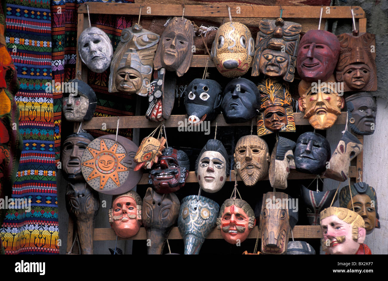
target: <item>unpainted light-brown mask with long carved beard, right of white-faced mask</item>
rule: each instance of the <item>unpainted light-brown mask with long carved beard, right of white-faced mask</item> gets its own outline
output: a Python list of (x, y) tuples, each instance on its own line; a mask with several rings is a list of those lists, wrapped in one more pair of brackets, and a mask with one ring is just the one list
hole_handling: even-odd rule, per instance
[(270, 155), (262, 138), (253, 134), (241, 137), (233, 156), (237, 174), (245, 185), (253, 186), (267, 176)]

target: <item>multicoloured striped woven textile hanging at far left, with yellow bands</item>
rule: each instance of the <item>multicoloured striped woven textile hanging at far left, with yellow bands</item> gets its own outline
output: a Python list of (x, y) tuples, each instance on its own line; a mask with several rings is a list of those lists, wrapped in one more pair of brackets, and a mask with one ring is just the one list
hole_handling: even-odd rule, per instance
[(51, 82), (50, 1), (7, 0), (5, 43), (17, 71), (23, 137), (13, 198), (31, 200), (30, 212), (7, 209), (0, 236), (5, 253), (59, 253)]

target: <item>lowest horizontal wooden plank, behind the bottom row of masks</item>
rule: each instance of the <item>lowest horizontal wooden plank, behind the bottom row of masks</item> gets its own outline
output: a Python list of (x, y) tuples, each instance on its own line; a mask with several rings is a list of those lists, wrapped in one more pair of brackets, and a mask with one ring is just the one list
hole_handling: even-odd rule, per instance
[[(249, 233), (248, 239), (256, 239), (257, 234), (259, 232), (258, 226), (255, 226), (255, 228), (252, 229), (252, 231)], [(294, 238), (300, 239), (300, 238), (323, 238), (322, 231), (320, 230), (320, 226), (295, 226), (293, 229)], [(94, 241), (104, 241), (104, 240), (116, 240), (116, 234), (114, 233), (112, 228), (95, 228), (94, 229)], [(147, 234), (145, 233), (145, 228), (141, 227), (139, 232), (131, 237), (131, 238), (120, 238), (118, 237), (118, 240), (146, 240)], [(179, 233), (178, 227), (174, 227), (170, 235), (168, 236), (168, 239), (175, 240), (175, 239), (182, 239), (182, 236)], [(221, 236), (220, 229), (213, 229), (211, 233), (208, 235), (206, 239), (223, 239)], [(290, 233), (290, 239), (291, 233)]]

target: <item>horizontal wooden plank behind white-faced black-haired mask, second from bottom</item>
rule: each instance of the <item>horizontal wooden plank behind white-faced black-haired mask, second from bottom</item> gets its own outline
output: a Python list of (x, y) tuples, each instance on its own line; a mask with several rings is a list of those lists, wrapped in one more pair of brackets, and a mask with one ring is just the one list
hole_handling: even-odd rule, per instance
[[(148, 175), (149, 174), (143, 174), (138, 185), (148, 184), (148, 179), (149, 179)], [(356, 174), (356, 167), (350, 166), (349, 167), (349, 178), (355, 178), (356, 176), (358, 176)], [(322, 176), (321, 178), (325, 179), (326, 177)], [(305, 174), (305, 173), (298, 172), (295, 169), (291, 169), (290, 174), (288, 175), (288, 179), (315, 179), (315, 175)], [(234, 181), (234, 180), (235, 180), (234, 170), (232, 170), (231, 176), (227, 177), (226, 181)], [(238, 175), (237, 175), (237, 181), (241, 181), (241, 178)], [(262, 179), (262, 181), (269, 181), (268, 176), (266, 176), (264, 179)], [(186, 183), (197, 183), (197, 182), (198, 182), (198, 180), (197, 180), (197, 177), (195, 175), (195, 172), (194, 171), (189, 172), (189, 175), (187, 176), (187, 179), (186, 179)]]

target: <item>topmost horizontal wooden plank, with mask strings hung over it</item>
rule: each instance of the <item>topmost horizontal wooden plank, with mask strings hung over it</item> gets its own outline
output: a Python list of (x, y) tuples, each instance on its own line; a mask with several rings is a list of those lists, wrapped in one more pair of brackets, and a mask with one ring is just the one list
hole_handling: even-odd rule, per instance
[[(182, 5), (147, 4), (147, 3), (96, 3), (88, 2), (80, 5), (78, 13), (87, 14), (139, 15), (142, 5), (142, 16), (182, 16)], [(185, 17), (226, 17), (229, 18), (228, 5), (184, 5)], [(262, 17), (277, 18), (280, 16), (280, 6), (261, 5), (229, 5), (232, 18)], [(330, 10), (327, 9), (330, 8)], [(325, 6), (322, 18), (348, 19), (352, 18), (349, 6)], [(319, 19), (319, 6), (282, 6), (282, 18)], [(354, 17), (363, 18), (365, 12), (360, 6), (353, 6)], [(329, 11), (329, 14), (326, 13)], [(239, 12), (239, 14), (237, 14)]]

